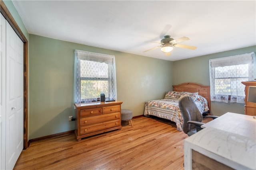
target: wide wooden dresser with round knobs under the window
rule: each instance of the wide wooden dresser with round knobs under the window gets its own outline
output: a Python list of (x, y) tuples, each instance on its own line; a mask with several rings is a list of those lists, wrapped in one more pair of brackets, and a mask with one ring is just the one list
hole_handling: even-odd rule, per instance
[(74, 104), (76, 107), (76, 139), (121, 129), (121, 101)]

